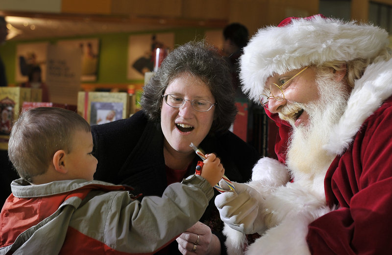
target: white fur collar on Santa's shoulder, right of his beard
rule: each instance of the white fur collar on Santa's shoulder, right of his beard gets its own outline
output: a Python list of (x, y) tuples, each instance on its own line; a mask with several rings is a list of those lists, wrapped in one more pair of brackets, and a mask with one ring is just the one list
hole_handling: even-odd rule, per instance
[(354, 86), (347, 108), (324, 149), (343, 154), (364, 121), (392, 95), (392, 59), (370, 64)]

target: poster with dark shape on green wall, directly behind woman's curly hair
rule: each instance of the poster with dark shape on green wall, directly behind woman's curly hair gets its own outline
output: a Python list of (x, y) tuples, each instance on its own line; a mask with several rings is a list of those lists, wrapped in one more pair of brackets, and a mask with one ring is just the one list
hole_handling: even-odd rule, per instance
[(128, 38), (128, 80), (144, 79), (154, 69), (156, 48), (170, 51), (174, 46), (174, 33), (131, 35)]

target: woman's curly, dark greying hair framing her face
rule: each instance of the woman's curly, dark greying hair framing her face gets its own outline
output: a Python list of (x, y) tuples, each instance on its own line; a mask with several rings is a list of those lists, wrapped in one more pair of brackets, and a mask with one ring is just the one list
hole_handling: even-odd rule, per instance
[(162, 62), (158, 71), (143, 87), (141, 106), (150, 120), (161, 118), (162, 95), (169, 83), (183, 73), (201, 79), (211, 90), (217, 105), (211, 133), (228, 130), (237, 114), (232, 77), (218, 50), (205, 42), (189, 42), (178, 46)]

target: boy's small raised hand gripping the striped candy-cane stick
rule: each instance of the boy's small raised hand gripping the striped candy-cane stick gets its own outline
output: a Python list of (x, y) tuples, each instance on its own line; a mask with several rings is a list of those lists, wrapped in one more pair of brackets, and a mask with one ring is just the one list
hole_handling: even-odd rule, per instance
[(214, 153), (208, 154), (207, 159), (204, 160), (200, 176), (206, 179), (211, 184), (211, 187), (214, 187), (221, 180), (223, 174), (224, 168), (221, 160)]

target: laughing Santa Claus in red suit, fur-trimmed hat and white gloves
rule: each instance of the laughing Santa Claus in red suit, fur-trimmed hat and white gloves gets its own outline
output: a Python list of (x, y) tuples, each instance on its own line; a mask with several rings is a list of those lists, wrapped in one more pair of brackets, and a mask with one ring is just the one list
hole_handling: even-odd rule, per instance
[(253, 36), (242, 89), (280, 127), (279, 161), (260, 159), (251, 182), (217, 196), (229, 254), (391, 252), (388, 45), (382, 28), (322, 15)]

